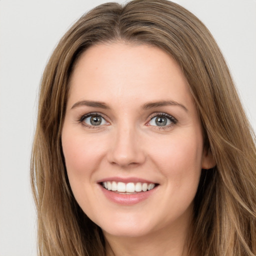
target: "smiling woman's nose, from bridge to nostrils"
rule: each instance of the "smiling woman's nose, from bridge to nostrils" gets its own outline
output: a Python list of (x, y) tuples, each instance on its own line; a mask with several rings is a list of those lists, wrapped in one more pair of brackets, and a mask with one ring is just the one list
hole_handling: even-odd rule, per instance
[(119, 127), (112, 137), (107, 153), (108, 162), (121, 167), (140, 165), (145, 161), (145, 152), (139, 132), (134, 127)]

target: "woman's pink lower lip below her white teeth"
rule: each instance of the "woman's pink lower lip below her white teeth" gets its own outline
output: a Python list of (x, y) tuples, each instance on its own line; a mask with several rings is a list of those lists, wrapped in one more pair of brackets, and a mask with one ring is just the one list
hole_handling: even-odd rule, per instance
[(144, 192), (138, 192), (135, 194), (119, 194), (119, 193), (113, 192), (111, 190), (105, 189), (100, 184), (99, 184), (99, 186), (107, 199), (109, 199), (112, 202), (115, 202), (117, 204), (122, 204), (122, 205), (131, 205), (131, 204), (141, 202), (141, 201), (147, 199), (150, 195), (152, 195), (157, 189), (157, 187), (154, 187), (151, 190), (144, 191)]

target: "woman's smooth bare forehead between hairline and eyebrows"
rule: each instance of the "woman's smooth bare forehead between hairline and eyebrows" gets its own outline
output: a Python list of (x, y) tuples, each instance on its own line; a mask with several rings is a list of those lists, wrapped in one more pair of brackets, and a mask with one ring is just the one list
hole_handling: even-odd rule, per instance
[(191, 101), (188, 83), (176, 61), (162, 49), (145, 44), (101, 43), (79, 57), (69, 100)]

